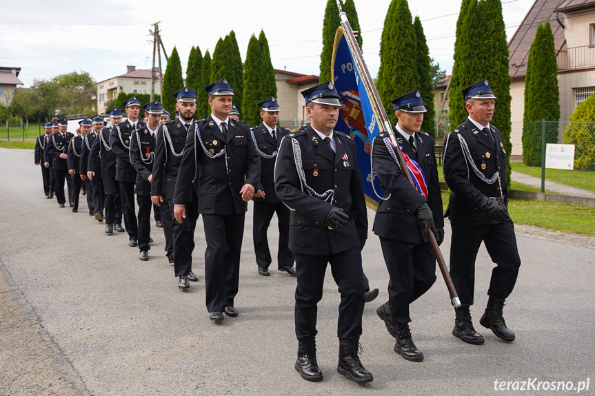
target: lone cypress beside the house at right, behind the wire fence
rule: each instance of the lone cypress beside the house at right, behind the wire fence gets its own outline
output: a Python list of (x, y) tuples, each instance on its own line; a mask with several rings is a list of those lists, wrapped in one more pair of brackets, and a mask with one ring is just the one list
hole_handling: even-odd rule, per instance
[[(560, 91), (554, 34), (549, 26), (537, 26), (535, 39), (527, 60), (525, 77), (525, 113), (523, 114), (523, 163), (541, 165), (541, 125), (538, 121), (558, 121), (560, 118)], [(499, 109), (498, 109), (499, 110)], [(545, 135), (546, 143), (558, 142), (557, 125), (547, 125), (555, 133)]]

